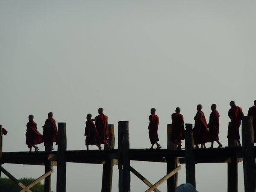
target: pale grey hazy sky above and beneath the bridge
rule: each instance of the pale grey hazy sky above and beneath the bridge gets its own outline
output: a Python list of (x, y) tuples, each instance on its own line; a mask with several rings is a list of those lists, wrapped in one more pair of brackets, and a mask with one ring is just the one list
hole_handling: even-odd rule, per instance
[[(50, 111), (67, 123), (67, 150), (85, 149), (86, 114), (96, 116), (100, 107), (114, 124), (116, 148), (122, 120), (129, 121), (130, 147), (149, 148), (148, 116), (156, 108), (159, 143), (166, 148), (176, 107), (185, 123), (194, 123), (202, 104), (208, 122), (213, 103), (227, 146), (229, 102), (247, 115), (256, 99), (255, 10), (255, 1), (237, 0), (0, 0), (0, 124), (9, 131), (3, 151), (28, 151), (29, 114), (42, 133)], [(165, 163), (131, 166), (151, 183), (166, 175)], [(16, 178), (44, 174), (43, 166), (3, 167)], [(67, 163), (67, 192), (100, 191), (101, 180), (102, 165)], [(178, 184), (185, 181), (182, 165)], [(239, 191), (243, 184), (239, 163)], [(227, 164), (197, 164), (196, 185), (199, 192), (227, 191)], [(131, 191), (146, 189), (131, 173)]]

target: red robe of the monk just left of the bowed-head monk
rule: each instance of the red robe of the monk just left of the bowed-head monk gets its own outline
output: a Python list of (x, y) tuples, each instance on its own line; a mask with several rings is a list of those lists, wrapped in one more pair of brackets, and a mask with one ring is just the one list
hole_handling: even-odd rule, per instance
[(209, 132), (208, 132), (209, 142), (219, 140), (218, 138), (219, 127), (220, 127), (219, 117), (220, 117), (220, 114), (216, 110), (212, 111), (212, 113), (210, 114), (209, 124), (207, 125), (209, 128)]

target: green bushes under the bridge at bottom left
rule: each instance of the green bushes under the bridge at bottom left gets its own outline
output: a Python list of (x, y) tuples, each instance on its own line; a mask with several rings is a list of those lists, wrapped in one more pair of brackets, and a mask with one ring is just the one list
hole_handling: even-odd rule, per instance
[[(30, 183), (32, 183), (35, 178), (32, 177), (23, 177), (19, 179), (21, 183), (23, 183), (25, 186), (28, 186)], [(11, 179), (3, 177), (0, 180), (0, 192), (18, 192), (22, 188), (18, 186), (16, 183), (14, 183)], [(41, 182), (37, 183), (35, 186), (30, 188), (32, 192), (44, 192), (44, 184)]]

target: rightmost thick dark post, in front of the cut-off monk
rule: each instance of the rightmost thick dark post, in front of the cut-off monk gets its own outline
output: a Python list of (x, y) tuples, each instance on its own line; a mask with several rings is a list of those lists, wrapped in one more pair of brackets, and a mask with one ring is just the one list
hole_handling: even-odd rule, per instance
[(255, 152), (252, 116), (244, 116), (242, 118), (242, 145), (244, 192), (255, 192)]

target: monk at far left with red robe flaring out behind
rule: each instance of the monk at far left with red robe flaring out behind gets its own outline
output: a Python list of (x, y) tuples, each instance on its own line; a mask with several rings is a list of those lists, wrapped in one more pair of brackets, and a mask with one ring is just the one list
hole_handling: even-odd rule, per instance
[(34, 122), (34, 116), (29, 115), (29, 122), (27, 123), (26, 127), (26, 145), (28, 145), (29, 152), (32, 151), (32, 147), (35, 148), (35, 151), (38, 151), (39, 148), (35, 145), (41, 144), (44, 142), (43, 136), (39, 133), (37, 129), (37, 124)]

